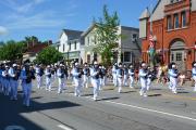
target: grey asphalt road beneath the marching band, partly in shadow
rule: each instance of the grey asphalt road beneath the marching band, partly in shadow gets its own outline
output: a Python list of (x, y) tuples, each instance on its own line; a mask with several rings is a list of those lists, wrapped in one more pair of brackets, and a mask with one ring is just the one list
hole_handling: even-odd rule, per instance
[(97, 102), (93, 88), (84, 89), (81, 98), (72, 87), (62, 94), (52, 89), (34, 87), (28, 108), (22, 105), (21, 91), (17, 101), (0, 94), (0, 130), (196, 130), (196, 93), (189, 87), (179, 88), (175, 95), (167, 86), (154, 84), (143, 98), (138, 87), (118, 93), (108, 86)]

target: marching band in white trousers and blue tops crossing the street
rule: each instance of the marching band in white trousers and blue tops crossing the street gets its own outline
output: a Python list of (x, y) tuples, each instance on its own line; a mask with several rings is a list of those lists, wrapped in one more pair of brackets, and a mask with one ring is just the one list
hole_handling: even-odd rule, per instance
[[(23, 91), (23, 104), (25, 106), (30, 105), (30, 93), (33, 84), (36, 84), (38, 89), (41, 89), (45, 84), (47, 91), (52, 91), (52, 86), (56, 79), (58, 79), (59, 86), (57, 93), (62, 93), (68, 88), (68, 79), (72, 79), (74, 87), (74, 95), (81, 96), (82, 90), (93, 86), (94, 100), (97, 101), (99, 92), (109, 84), (109, 74), (111, 74), (113, 84), (118, 88), (118, 92), (121, 93), (123, 87), (130, 87), (131, 89), (136, 87), (136, 82), (140, 83), (139, 95), (148, 96), (147, 91), (150, 90), (152, 80), (159, 79), (159, 72), (156, 73), (154, 68), (143, 62), (138, 69), (138, 81), (136, 81), (136, 66), (133, 64), (123, 65), (122, 63), (114, 63), (111, 68), (106, 68), (103, 65), (98, 64), (95, 61), (91, 65), (85, 63), (79, 65), (78, 62), (74, 62), (72, 67), (65, 66), (63, 63), (54, 65), (30, 65), (25, 63), (17, 65), (16, 63), (2, 63), (0, 65), (0, 92), (10, 96), (10, 100), (17, 100), (19, 87), (22, 87)], [(169, 90), (172, 93), (177, 93), (177, 79), (180, 73), (177, 65), (171, 63), (168, 67), (168, 73), (164, 74), (168, 77)], [(45, 79), (45, 83), (44, 83)], [(194, 91), (196, 91), (196, 62), (193, 63), (192, 79), (195, 81)], [(36, 80), (36, 83), (33, 83)]]

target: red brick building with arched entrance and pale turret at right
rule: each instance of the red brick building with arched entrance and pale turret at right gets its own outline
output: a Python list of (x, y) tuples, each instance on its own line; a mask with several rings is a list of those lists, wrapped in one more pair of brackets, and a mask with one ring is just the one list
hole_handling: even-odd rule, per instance
[(196, 61), (196, 0), (158, 0), (151, 14), (148, 9), (143, 12), (139, 37), (146, 62), (150, 28), (159, 60), (166, 64), (175, 62), (181, 70), (189, 70)]

